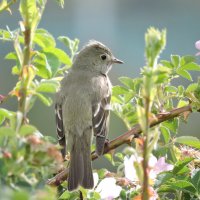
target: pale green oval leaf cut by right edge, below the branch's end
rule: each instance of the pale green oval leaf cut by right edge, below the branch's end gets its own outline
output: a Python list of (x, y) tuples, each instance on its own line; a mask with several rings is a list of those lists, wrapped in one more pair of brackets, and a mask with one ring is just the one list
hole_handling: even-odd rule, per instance
[(193, 136), (180, 136), (175, 138), (175, 142), (200, 149), (200, 140)]

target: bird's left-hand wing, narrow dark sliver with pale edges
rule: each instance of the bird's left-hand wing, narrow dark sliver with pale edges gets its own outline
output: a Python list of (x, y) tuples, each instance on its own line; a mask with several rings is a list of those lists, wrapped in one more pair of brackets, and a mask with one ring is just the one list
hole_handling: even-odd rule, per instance
[(61, 153), (63, 158), (65, 158), (66, 154), (66, 140), (65, 140), (65, 132), (63, 126), (63, 116), (62, 116), (62, 106), (59, 104), (55, 105), (55, 114), (56, 114), (56, 131), (57, 138), (60, 146), (62, 147)]

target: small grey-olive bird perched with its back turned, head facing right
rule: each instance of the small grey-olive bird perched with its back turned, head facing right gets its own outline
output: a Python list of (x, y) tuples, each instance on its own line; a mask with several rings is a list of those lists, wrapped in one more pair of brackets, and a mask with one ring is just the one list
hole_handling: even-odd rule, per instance
[(90, 41), (76, 56), (56, 95), (58, 141), (63, 157), (67, 149), (70, 152), (69, 191), (94, 186), (90, 148), (94, 134), (96, 153), (104, 152), (112, 88), (107, 73), (114, 63), (123, 62), (102, 43)]

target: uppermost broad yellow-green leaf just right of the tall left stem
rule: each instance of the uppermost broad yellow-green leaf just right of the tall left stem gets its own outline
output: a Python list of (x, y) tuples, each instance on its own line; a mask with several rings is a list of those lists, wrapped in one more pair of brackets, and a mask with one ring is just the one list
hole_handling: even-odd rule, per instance
[(54, 48), (56, 46), (54, 37), (45, 29), (36, 30), (33, 42), (42, 49)]

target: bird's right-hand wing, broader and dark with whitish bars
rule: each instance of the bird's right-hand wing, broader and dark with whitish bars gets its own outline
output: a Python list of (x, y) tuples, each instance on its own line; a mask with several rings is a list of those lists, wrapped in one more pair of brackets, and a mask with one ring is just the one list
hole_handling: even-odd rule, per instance
[(104, 144), (108, 134), (109, 115), (110, 115), (110, 99), (111, 95), (101, 100), (99, 104), (93, 105), (93, 130), (96, 136), (96, 152), (102, 155)]

